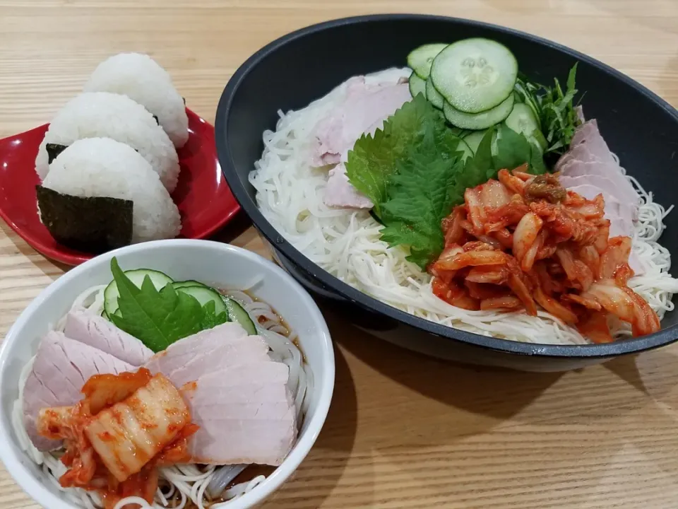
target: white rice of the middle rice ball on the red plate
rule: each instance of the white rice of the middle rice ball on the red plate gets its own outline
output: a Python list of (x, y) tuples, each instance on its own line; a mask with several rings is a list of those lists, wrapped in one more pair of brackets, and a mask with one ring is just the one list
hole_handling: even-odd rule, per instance
[(38, 149), (35, 171), (44, 180), (49, 172), (47, 144), (69, 146), (84, 138), (105, 137), (134, 148), (150, 163), (167, 191), (177, 187), (179, 158), (172, 141), (153, 115), (126, 95), (83, 93), (61, 108)]

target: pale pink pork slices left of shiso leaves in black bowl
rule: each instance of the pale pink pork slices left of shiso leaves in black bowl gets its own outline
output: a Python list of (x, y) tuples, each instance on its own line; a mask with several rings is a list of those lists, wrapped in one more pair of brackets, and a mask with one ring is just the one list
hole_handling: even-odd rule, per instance
[(329, 172), (326, 205), (371, 209), (369, 198), (355, 189), (346, 176), (348, 152), (360, 136), (381, 129), (383, 121), (411, 98), (406, 83), (372, 85), (364, 76), (348, 81), (343, 102), (315, 127), (318, 144), (314, 161), (318, 165), (337, 164)]

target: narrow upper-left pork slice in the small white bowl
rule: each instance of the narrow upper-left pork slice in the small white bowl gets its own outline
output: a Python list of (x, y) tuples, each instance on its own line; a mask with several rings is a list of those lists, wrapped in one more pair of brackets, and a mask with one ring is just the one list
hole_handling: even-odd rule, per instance
[(64, 334), (133, 366), (140, 366), (153, 356), (153, 351), (136, 337), (84, 308), (69, 311)]

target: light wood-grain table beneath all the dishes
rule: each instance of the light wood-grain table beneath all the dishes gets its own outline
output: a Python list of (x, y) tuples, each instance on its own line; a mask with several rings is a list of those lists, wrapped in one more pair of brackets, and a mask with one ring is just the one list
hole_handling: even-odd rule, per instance
[[(0, 0), (0, 136), (49, 121), (97, 62), (124, 50), (157, 58), (211, 121), (228, 78), (266, 42), (386, 11), (549, 37), (678, 106), (678, 0)], [(0, 228), (6, 332), (65, 267)], [(218, 238), (265, 254), (246, 218)], [(330, 414), (266, 508), (678, 507), (678, 346), (533, 375), (422, 358), (327, 318), (337, 344)], [(4, 470), (0, 508), (37, 508)]]

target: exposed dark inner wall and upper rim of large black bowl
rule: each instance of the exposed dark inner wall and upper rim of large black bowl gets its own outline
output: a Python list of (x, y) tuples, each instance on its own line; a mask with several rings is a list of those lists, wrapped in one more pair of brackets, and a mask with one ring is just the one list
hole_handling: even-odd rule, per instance
[[(314, 266), (258, 212), (255, 190), (248, 175), (261, 157), (262, 133), (275, 129), (278, 110), (303, 108), (350, 76), (405, 66), (408, 52), (418, 45), (453, 42), (465, 37), (489, 37), (502, 42), (516, 55), (520, 70), (538, 81), (551, 82), (557, 77), (562, 83), (573, 64), (579, 62), (577, 87), (585, 91), (582, 100), (585, 116), (598, 120), (612, 151), (617, 153), (626, 170), (653, 192), (655, 201), (665, 207), (674, 202), (678, 112), (646, 88), (595, 59), (514, 30), (434, 16), (365, 16), (300, 30), (251, 57), (225, 89), (216, 119), (222, 168), (240, 204), (275, 249), (284, 252), (307, 273), (318, 276), (323, 286), (331, 286), (364, 308), (382, 310), (388, 306), (379, 306), (374, 300), (359, 296)], [(322, 70), (309, 71), (309, 62), (322, 62)], [(275, 76), (275, 86), (271, 86), (272, 76)], [(662, 245), (672, 254), (678, 254), (678, 212), (670, 213), (665, 224)], [(396, 315), (395, 310), (389, 313)], [(421, 327), (424, 320), (416, 322), (417, 327)], [(677, 313), (668, 312), (662, 328), (677, 322)], [(435, 330), (441, 335), (459, 335), (453, 329)], [(631, 340), (629, 344), (635, 344), (633, 341), (638, 340)], [(497, 347), (499, 343), (506, 343), (495, 342)], [(573, 351), (571, 354), (577, 355)]]

